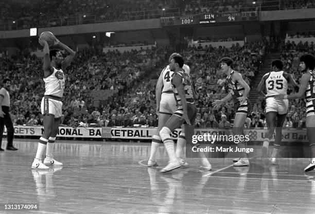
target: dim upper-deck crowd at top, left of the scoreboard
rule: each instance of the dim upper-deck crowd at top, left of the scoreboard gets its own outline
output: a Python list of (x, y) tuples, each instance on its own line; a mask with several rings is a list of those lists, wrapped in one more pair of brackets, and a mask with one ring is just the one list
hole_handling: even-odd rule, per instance
[[(2, 14), (0, 23), (14, 22), (12, 29), (15, 29), (15, 26), (21, 29), (86, 24), (90, 19), (94, 22), (154, 19), (164, 15), (163, 8), (178, 8), (176, 2), (175, 0), (153, 2), (148, 0), (52, 0), (43, 4), (41, 0), (4, 0), (0, 3)], [(151, 12), (144, 15), (143, 11)]]

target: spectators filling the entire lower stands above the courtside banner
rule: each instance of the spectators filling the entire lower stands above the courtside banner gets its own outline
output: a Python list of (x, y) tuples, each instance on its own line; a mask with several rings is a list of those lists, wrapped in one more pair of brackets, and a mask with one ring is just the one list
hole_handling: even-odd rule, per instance
[[(219, 60), (229, 56), (234, 60), (234, 69), (238, 70), (249, 84), (259, 72), (266, 53), (273, 51), (272, 40), (264, 38), (261, 42), (232, 45), (231, 48), (211, 45), (188, 46), (182, 51), (185, 63), (189, 65), (195, 91), (198, 115), (195, 128), (226, 128), (234, 119), (233, 101), (221, 108), (214, 109), (212, 102), (223, 98), (226, 80), (219, 67)], [(295, 44), (282, 41), (282, 60), (284, 70), (293, 75), (298, 82), (302, 73), (299, 70), (299, 58), (303, 53), (314, 54), (313, 42)], [(156, 127), (155, 84), (162, 68), (167, 65), (171, 46), (152, 47), (152, 49), (132, 50), (130, 52), (102, 52), (101, 46), (85, 48), (77, 52), (67, 74), (63, 98), (61, 126), (148, 126)], [(42, 80), (42, 61), (36, 56), (23, 53), (11, 58), (0, 58), (0, 78), (9, 77), (11, 86), (11, 115), (14, 124), (42, 125), (40, 103), (44, 92)], [(144, 76), (152, 76), (146, 79)], [(145, 74), (145, 75), (144, 75)], [(95, 104), (91, 91), (116, 91), (106, 102)], [(289, 88), (289, 93), (293, 90)], [(264, 103), (252, 103), (252, 111), (246, 121), (247, 128), (266, 127)], [(84, 109), (85, 112), (76, 111)], [(287, 128), (305, 127), (305, 103), (301, 99), (292, 100), (284, 126)]]

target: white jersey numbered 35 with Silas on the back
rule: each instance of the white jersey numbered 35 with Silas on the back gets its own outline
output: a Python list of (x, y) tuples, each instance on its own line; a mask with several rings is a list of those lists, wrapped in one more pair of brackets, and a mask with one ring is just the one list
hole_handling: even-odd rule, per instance
[(267, 97), (277, 94), (287, 95), (288, 81), (283, 76), (283, 71), (270, 72), (264, 76), (266, 75), (268, 75), (266, 79)]

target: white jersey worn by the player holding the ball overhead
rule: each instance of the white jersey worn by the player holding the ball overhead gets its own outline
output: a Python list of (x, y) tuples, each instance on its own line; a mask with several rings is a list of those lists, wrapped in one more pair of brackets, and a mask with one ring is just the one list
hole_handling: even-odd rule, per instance
[(65, 81), (62, 69), (54, 68), (53, 74), (49, 77), (44, 78), (45, 82), (45, 95), (53, 95), (57, 97), (62, 97)]

